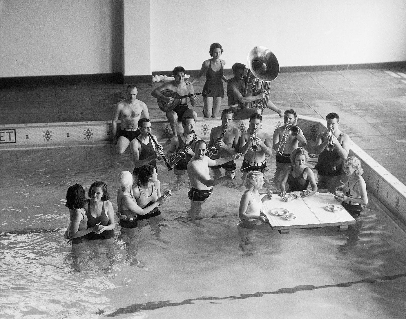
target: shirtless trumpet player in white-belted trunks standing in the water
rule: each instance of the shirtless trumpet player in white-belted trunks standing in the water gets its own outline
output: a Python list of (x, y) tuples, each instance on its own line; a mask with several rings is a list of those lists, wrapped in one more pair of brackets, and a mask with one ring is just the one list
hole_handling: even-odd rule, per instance
[[(259, 130), (261, 126), (262, 116), (261, 114), (253, 114), (250, 116), (250, 125), (246, 133), (241, 135), (239, 151), (244, 155), (244, 161), (242, 162), (241, 170), (249, 172), (251, 170), (257, 170), (263, 173), (266, 168), (265, 155), (272, 154), (272, 139), (263, 131)], [(254, 129), (257, 129), (256, 143), (258, 150), (256, 152), (251, 151), (254, 139)]]

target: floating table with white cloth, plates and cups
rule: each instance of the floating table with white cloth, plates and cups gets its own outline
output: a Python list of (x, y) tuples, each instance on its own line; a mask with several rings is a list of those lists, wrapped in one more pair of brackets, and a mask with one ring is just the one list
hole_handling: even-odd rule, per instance
[[(265, 194), (261, 195), (261, 197)], [(268, 218), (268, 223), (272, 229), (276, 229), (281, 234), (288, 234), (289, 229), (337, 226), (340, 230), (348, 229), (348, 225), (356, 223), (345, 209), (331, 212), (327, 210), (327, 203), (340, 205), (333, 194), (327, 190), (320, 190), (313, 196), (304, 199), (294, 199), (286, 202), (278, 194), (274, 194), (272, 200), (265, 201), (266, 211), (263, 213)], [(284, 208), (294, 213), (296, 218), (286, 220), (285, 215), (275, 216), (270, 210), (273, 208)]]

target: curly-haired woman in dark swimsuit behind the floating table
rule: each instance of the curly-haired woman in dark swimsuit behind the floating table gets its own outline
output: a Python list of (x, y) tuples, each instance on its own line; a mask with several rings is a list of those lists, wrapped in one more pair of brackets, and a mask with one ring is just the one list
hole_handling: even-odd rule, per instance
[[(313, 171), (309, 166), (305, 165), (308, 158), (309, 153), (303, 147), (294, 149), (290, 155), (290, 160), (295, 165), (289, 166), (285, 175), (283, 175), (281, 181), (281, 197), (285, 197), (287, 192), (307, 190), (309, 184), (311, 185), (311, 190), (306, 191), (307, 196), (311, 196), (317, 192), (317, 184)], [(287, 192), (286, 183), (289, 184)]]

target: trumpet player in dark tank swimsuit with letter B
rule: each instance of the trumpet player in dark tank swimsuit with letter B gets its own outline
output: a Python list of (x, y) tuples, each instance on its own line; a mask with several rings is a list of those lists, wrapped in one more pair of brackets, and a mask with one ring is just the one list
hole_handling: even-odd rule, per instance
[[(337, 113), (327, 114), (326, 121), (328, 132), (319, 133), (316, 138), (314, 152), (320, 155), (315, 169), (319, 173), (317, 181), (319, 189), (328, 188), (331, 191), (339, 182), (341, 166), (344, 159), (348, 157), (351, 140), (346, 133), (340, 131), (340, 117)], [(329, 132), (331, 128), (333, 128), (333, 135), (330, 135)], [(326, 146), (330, 142), (331, 136), (333, 136), (332, 144), (334, 149), (333, 151), (328, 151)], [(334, 181), (331, 180), (334, 177), (337, 178)]]

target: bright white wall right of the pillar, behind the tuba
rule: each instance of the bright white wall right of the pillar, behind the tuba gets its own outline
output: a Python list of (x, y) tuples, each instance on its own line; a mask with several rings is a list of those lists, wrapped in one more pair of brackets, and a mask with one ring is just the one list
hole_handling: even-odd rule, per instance
[(153, 71), (200, 69), (213, 42), (227, 68), (257, 45), (280, 66), (406, 61), (404, 0), (151, 0), (151, 26)]

